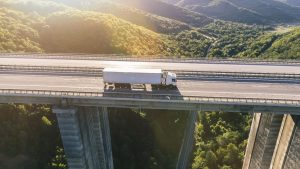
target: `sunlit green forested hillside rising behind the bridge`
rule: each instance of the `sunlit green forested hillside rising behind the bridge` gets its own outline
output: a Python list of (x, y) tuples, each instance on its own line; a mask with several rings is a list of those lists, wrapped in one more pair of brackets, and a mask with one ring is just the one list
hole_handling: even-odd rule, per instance
[[(0, 4), (10, 8), (2, 9), (2, 13), (5, 13), (5, 17), (7, 16), (2, 22), (4, 25), (2, 29), (10, 30), (9, 25), (17, 22), (18, 27), (26, 26), (26, 28), (22, 28), (22, 31), (31, 31), (31, 33), (27, 31), (24, 34), (28, 36), (26, 44), (24, 37), (8, 38), (7, 42), (6, 40), (2, 41), (2, 44), (11, 44), (9, 41), (13, 39), (18, 41), (23, 39), (23, 44), (27, 46), (26, 50), (22, 49), (21, 51), (122, 53), (181, 57), (299, 58), (297, 45), (273, 51), (272, 55), (274, 56), (270, 57), (272, 49), (268, 50), (268, 48), (275, 41), (274, 39), (264, 41), (266, 37), (285, 37), (287, 41), (289, 38), (292, 38), (291, 41), (297, 41), (299, 38), (285, 36), (285, 34), (273, 35), (274, 33), (270, 32), (269, 28), (262, 26), (215, 21), (200, 28), (194, 28), (187, 23), (116, 3), (99, 2), (94, 6), (88, 5), (88, 9), (94, 12), (79, 10), (83, 7), (78, 4), (69, 7), (52, 1), (1, 0)], [(45, 10), (46, 8), (48, 10)], [(12, 13), (16, 14), (12, 15)], [(8, 22), (11, 17), (18, 17), (18, 19), (5, 24), (5, 21)], [(204, 18), (204, 20), (206, 19)], [(17, 29), (17, 26), (13, 29)], [(11, 32), (6, 31), (5, 36), (20, 34)], [(82, 44), (82, 41), (88, 43)], [(264, 42), (266, 44), (261, 44), (264, 46), (262, 49), (253, 49), (257, 43)], [(276, 44), (274, 46), (276, 47)], [(21, 46), (19, 45), (19, 47)], [(9, 49), (6, 48), (6, 50)]]

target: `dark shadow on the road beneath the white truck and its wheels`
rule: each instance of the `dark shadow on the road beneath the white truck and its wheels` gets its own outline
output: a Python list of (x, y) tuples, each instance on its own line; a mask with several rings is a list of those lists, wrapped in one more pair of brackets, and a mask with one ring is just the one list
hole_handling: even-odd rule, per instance
[(144, 88), (105, 86), (103, 97), (183, 100), (177, 87), (159, 87), (147, 85)]

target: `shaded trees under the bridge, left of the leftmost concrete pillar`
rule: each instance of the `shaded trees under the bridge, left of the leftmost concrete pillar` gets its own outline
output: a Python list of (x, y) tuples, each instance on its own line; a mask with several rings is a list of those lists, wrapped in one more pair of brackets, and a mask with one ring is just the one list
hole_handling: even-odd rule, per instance
[(49, 105), (0, 105), (1, 169), (66, 169)]

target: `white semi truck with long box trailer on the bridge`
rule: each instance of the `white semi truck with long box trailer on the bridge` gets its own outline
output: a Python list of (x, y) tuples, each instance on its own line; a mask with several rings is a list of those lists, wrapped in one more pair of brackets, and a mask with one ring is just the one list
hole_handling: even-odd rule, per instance
[(176, 86), (176, 74), (161, 69), (105, 68), (105, 84), (151, 84), (159, 86)]

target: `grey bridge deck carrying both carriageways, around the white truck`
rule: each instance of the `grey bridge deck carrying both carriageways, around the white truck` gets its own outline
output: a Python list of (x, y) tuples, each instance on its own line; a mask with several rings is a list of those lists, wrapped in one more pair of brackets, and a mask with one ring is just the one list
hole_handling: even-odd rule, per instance
[[(252, 73), (269, 73), (269, 74), (295, 74), (300, 75), (300, 67), (296, 65), (273, 65), (273, 64), (206, 64), (206, 63), (168, 63), (168, 62), (121, 62), (121, 61), (105, 61), (105, 60), (72, 60), (72, 59), (41, 59), (41, 58), (13, 58), (13, 57), (0, 57), (0, 63), (4, 65), (32, 65), (32, 66), (64, 66), (64, 67), (94, 67), (94, 68), (104, 68), (104, 67), (139, 67), (139, 68), (163, 68), (167, 70), (175, 71), (214, 71), (214, 72), (252, 72)], [(54, 67), (55, 68), (55, 67)], [(273, 76), (272, 75), (272, 76)], [(32, 72), (24, 73), (22, 70), (14, 71), (10, 69), (9, 72), (5, 70), (0, 72), (0, 90), (1, 89), (18, 89), (18, 90), (46, 90), (46, 91), (71, 91), (71, 92), (93, 92), (97, 94), (97, 97), (111, 96), (114, 94), (114, 99), (122, 97), (118, 95), (119, 93), (127, 94), (138, 94), (139, 96), (132, 95), (135, 99), (144, 97), (143, 95), (162, 95), (158, 98), (150, 98), (153, 103), (159, 104), (160, 99), (165, 102), (167, 98), (172, 101), (173, 98), (176, 98), (178, 101), (183, 98), (193, 97), (194, 98), (205, 98), (205, 97), (225, 97), (225, 98), (238, 98), (231, 101), (230, 103), (225, 101), (224, 103), (216, 104), (231, 104), (231, 105), (253, 105), (257, 102), (256, 105), (263, 105), (264, 102), (276, 102), (272, 100), (279, 99), (276, 105), (286, 104), (286, 100), (293, 100), (300, 102), (300, 85), (299, 83), (293, 82), (291, 79), (281, 79), (271, 83), (271, 81), (264, 81), (263, 79), (252, 79), (247, 81), (245, 77), (244, 80), (226, 80), (222, 77), (210, 77), (209, 80), (205, 78), (199, 78), (196, 76), (191, 76), (192, 78), (179, 77), (178, 78), (178, 88), (172, 90), (166, 89), (152, 89), (150, 86), (147, 86), (147, 90), (129, 90), (129, 89), (104, 89), (104, 84), (102, 81), (101, 75), (97, 76), (96, 74), (85, 74), (85, 72), (75, 72), (73, 74), (68, 74), (66, 72), (62, 74), (57, 74), (51, 71), (44, 71), (42, 74), (38, 71), (33, 70)], [(218, 76), (222, 76), (218, 75)], [(235, 75), (234, 75), (235, 76)], [(237, 75), (242, 76), (242, 75)], [(226, 77), (230, 78), (230, 77)], [(279, 77), (281, 78), (281, 77)], [(295, 76), (298, 80), (298, 76)], [(243, 77), (242, 77), (243, 79)], [(269, 79), (270, 80), (270, 79)], [(2, 90), (3, 91), (3, 90)], [(101, 93), (99, 95), (99, 93)], [(1, 93), (0, 93), (1, 94)], [(3, 93), (2, 93), (3, 95)], [(5, 98), (2, 98), (2, 102), (5, 102), (5, 99), (9, 99), (13, 102), (13, 97), (10, 97), (9, 93), (4, 94)], [(34, 95), (33, 98), (39, 97), (40, 93)], [(41, 94), (44, 96), (43, 93)], [(172, 98), (170, 98), (171, 96)], [(63, 98), (63, 96), (55, 96), (56, 98)], [(75, 96), (74, 96), (75, 97)], [(88, 97), (88, 96), (87, 96)], [(148, 97), (148, 96), (147, 96)], [(123, 97), (124, 98), (124, 97)], [(82, 99), (82, 98), (81, 98)], [(149, 99), (149, 98), (147, 98)], [(244, 99), (244, 100), (243, 100)], [(250, 102), (245, 99), (250, 99)], [(252, 100), (251, 100), (252, 99)], [(258, 99), (259, 101), (256, 101)], [(264, 100), (265, 99), (265, 100)], [(22, 100), (22, 99), (21, 99)], [(19, 100), (19, 101), (21, 101)], [(24, 100), (24, 99), (23, 99)], [(103, 99), (102, 99), (103, 100)], [(123, 99), (124, 100), (124, 99)], [(168, 99), (167, 99), (168, 100)], [(219, 99), (222, 100), (222, 99)], [(226, 99), (225, 99), (226, 100)], [(267, 100), (267, 101), (266, 101)], [(54, 102), (57, 103), (58, 100)], [(199, 101), (199, 99), (198, 99)], [(203, 101), (203, 99), (202, 99)], [(286, 103), (282, 103), (286, 102)], [(292, 102), (293, 102), (292, 101)], [(28, 101), (30, 102), (30, 101)], [(73, 101), (75, 104), (79, 100)], [(96, 101), (97, 102), (97, 101)], [(96, 103), (95, 102), (95, 103)], [(47, 102), (46, 102), (47, 103)], [(48, 102), (53, 104), (52, 102)], [(103, 101), (102, 101), (103, 103)], [(185, 100), (186, 103), (186, 100)], [(210, 100), (210, 103), (214, 103), (214, 99)], [(128, 102), (129, 104), (129, 102)], [(170, 102), (171, 104), (171, 102)], [(293, 106), (299, 106), (293, 103)], [(115, 106), (117, 103), (115, 104)], [(125, 105), (125, 104), (124, 104)], [(138, 100), (135, 100), (135, 106), (141, 105), (138, 103)], [(144, 104), (145, 105), (145, 104)], [(125, 105), (126, 106), (126, 105)], [(128, 105), (127, 105), (128, 106)], [(270, 105), (269, 105), (270, 106)], [(283, 106), (283, 107), (284, 107)], [(148, 107), (151, 107), (148, 105)], [(176, 106), (175, 106), (176, 107)], [(178, 108), (178, 107), (177, 107)], [(194, 107), (195, 108), (195, 107)], [(249, 109), (247, 109), (249, 110)]]

